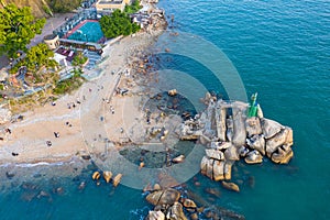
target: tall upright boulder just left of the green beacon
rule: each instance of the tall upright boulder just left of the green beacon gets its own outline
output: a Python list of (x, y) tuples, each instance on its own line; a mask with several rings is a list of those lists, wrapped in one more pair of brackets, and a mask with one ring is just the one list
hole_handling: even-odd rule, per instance
[(245, 123), (243, 119), (243, 113), (238, 108), (232, 108), (233, 112), (233, 138), (232, 143), (235, 146), (241, 146), (245, 144), (246, 139), (246, 130), (245, 130)]

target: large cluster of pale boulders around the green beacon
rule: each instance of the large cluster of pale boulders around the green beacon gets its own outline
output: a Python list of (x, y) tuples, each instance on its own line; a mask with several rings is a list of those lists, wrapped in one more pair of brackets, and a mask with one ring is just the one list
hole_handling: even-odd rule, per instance
[(249, 105), (227, 102), (206, 95), (206, 111), (182, 125), (182, 140), (198, 140), (206, 145), (200, 163), (201, 173), (213, 180), (231, 179), (234, 161), (262, 163), (263, 157), (287, 164), (293, 157), (293, 130), (263, 117), (246, 116)]

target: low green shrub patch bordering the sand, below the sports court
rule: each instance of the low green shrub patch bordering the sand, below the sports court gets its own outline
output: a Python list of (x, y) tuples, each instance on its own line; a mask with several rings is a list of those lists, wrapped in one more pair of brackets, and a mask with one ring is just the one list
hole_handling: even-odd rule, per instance
[(56, 87), (53, 90), (54, 94), (55, 95), (64, 95), (64, 94), (72, 92), (72, 91), (78, 89), (85, 81), (85, 79), (81, 77), (81, 73), (82, 73), (82, 70), (80, 68), (75, 69), (73, 77), (62, 80), (62, 81), (58, 81), (56, 84)]

